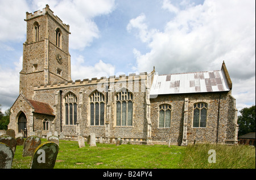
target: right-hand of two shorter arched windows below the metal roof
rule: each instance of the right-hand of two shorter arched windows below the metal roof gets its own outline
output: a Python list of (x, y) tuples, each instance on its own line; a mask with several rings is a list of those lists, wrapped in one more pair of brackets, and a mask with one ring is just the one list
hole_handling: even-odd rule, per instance
[(193, 127), (202, 128), (206, 127), (207, 123), (207, 103), (195, 103), (193, 107)]

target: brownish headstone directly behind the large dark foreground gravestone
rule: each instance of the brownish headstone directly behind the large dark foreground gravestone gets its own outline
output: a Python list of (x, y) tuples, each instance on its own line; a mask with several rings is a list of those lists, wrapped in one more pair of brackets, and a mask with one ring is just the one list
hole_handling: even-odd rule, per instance
[(24, 141), (23, 157), (33, 156), (35, 149), (41, 144), (38, 136), (30, 136)]

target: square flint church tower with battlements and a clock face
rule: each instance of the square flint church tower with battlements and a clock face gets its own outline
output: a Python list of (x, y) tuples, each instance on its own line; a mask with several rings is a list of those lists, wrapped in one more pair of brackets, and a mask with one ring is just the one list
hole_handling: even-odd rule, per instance
[(19, 93), (33, 96), (36, 85), (71, 81), (71, 56), (68, 51), (69, 26), (46, 5), (43, 11), (26, 12), (27, 40), (23, 44), (23, 67)]

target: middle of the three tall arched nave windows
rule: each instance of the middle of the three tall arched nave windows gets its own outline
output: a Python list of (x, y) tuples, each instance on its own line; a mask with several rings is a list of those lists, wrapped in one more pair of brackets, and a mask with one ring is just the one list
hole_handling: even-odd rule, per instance
[(90, 125), (104, 125), (105, 98), (95, 91), (90, 95)]

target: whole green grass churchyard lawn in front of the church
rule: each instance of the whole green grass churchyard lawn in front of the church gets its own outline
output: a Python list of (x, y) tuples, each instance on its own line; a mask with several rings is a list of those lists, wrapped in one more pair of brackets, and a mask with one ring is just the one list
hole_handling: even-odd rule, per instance
[[(46, 139), (42, 139), (42, 143)], [(184, 146), (99, 144), (79, 148), (77, 141), (60, 140), (56, 169), (176, 169), (176, 168), (254, 168), (255, 147), (215, 144)], [(216, 151), (216, 163), (209, 163), (208, 151)], [(14, 169), (30, 168), (31, 157), (22, 157), (16, 146)]]

